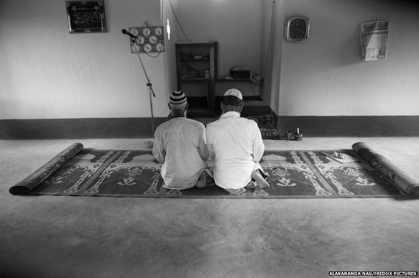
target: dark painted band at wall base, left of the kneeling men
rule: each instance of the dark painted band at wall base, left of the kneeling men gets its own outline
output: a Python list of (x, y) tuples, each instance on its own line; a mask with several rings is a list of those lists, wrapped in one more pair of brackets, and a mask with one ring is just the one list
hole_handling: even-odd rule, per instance
[[(166, 117), (154, 118), (154, 129)], [(0, 139), (153, 138), (151, 117), (0, 120)]]

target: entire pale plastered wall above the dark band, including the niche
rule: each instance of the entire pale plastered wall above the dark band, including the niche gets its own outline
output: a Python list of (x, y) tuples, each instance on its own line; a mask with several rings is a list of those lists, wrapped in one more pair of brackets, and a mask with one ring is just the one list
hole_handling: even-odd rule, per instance
[[(171, 3), (193, 41), (220, 43), (220, 76), (238, 64), (264, 75), (260, 95), (277, 115), (419, 114), (415, 1)], [(160, 25), (162, 13), (172, 39), (159, 57), (142, 58), (157, 95), (154, 116), (167, 115), (168, 93), (176, 88), (174, 43), (186, 41), (168, 1), (106, 0), (105, 7), (107, 33), (70, 34), (64, 1), (0, 1), (0, 120), (149, 117), (144, 72), (121, 29), (146, 20)], [(285, 40), (293, 15), (310, 18), (304, 43)], [(391, 21), (388, 58), (364, 62), (360, 23), (375, 19)]]

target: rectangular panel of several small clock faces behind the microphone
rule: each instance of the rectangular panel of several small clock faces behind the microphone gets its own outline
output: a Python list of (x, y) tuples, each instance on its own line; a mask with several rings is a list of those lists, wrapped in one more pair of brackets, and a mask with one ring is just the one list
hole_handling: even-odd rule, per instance
[[(138, 37), (136, 44), (139, 53), (164, 51), (163, 26), (129, 27), (128, 31)], [(132, 40), (129, 39), (129, 41), (131, 53), (136, 53)]]

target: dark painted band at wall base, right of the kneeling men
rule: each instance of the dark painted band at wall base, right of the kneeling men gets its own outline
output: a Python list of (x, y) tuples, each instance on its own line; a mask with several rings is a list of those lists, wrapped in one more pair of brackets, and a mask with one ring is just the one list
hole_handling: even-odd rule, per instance
[(276, 118), (281, 137), (285, 137), (287, 131), (296, 132), (297, 128), (300, 129), (304, 137), (419, 136), (419, 115), (276, 116)]

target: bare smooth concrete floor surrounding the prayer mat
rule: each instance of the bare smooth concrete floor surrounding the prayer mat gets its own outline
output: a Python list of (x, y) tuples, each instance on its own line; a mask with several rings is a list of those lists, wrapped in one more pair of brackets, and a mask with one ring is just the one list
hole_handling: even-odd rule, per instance
[[(419, 180), (419, 138), (304, 138), (266, 149), (366, 142)], [(196, 200), (14, 196), (9, 187), (73, 142), (0, 141), (0, 277), (326, 277), (418, 271), (419, 199)]]

